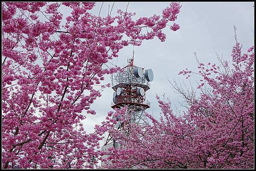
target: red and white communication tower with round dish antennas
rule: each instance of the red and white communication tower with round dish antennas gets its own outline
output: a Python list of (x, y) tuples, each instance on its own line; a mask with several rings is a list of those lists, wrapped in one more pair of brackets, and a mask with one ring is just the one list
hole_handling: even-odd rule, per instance
[[(150, 89), (150, 83), (154, 75), (151, 69), (137, 67), (133, 64), (133, 58), (127, 59), (128, 65), (111, 75), (111, 85), (113, 92), (113, 101), (111, 107), (120, 109), (127, 107), (125, 115), (130, 115), (128, 123), (116, 119), (116, 129), (122, 131), (129, 123), (136, 123), (142, 128), (148, 125), (147, 117), (144, 114), (145, 109), (150, 108), (150, 103), (146, 100), (146, 91)], [(102, 150), (111, 147), (118, 147), (116, 140), (108, 135)], [(102, 163), (104, 165), (105, 163)]]

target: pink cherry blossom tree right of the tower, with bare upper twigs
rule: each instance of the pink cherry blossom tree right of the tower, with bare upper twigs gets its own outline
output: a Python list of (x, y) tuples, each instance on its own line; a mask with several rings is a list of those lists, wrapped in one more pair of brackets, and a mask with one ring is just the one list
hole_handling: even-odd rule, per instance
[[(235, 28), (236, 29), (236, 28)], [(175, 115), (169, 99), (157, 95), (159, 120), (144, 129), (130, 123), (129, 133), (111, 129), (120, 148), (102, 151), (112, 164), (105, 168), (253, 168), (254, 167), (254, 46), (242, 52), (237, 42), (232, 65), (217, 54), (217, 64), (198, 62), (198, 71), (180, 71), (189, 78), (201, 77), (198, 90), (172, 83), (185, 100), (187, 111)], [(191, 78), (191, 77), (190, 77)], [(113, 115), (109, 113), (109, 116)], [(122, 110), (114, 115), (125, 118)], [(102, 159), (105, 161), (107, 159)]]

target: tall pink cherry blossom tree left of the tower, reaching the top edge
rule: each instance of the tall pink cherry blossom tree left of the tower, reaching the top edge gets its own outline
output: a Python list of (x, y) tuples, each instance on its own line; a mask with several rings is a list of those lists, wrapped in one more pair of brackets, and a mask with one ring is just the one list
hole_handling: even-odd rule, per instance
[[(104, 129), (88, 134), (82, 120), (109, 60), (125, 46), (158, 37), (174, 21), (179, 3), (162, 16), (93, 15), (95, 3), (2, 3), (2, 168), (93, 168)], [(72, 11), (63, 21), (63, 10)], [(145, 31), (145, 30), (147, 31)]]

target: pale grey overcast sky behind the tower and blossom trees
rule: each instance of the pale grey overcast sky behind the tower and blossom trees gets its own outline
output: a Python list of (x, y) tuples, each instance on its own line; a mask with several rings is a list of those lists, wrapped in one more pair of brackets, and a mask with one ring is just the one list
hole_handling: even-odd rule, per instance
[[(112, 2), (97, 2), (93, 8), (93, 14), (98, 15), (102, 6), (101, 16), (108, 14)], [(115, 2), (111, 16), (116, 15), (118, 8), (125, 11), (127, 2)], [(130, 2), (128, 12), (136, 12), (134, 19), (139, 17), (150, 17), (153, 14), (161, 14), (169, 2)], [(158, 116), (160, 108), (155, 98), (156, 93), (163, 95), (172, 102), (172, 109), (181, 108), (178, 101), (182, 101), (179, 95), (173, 92), (166, 76), (177, 83), (182, 83), (185, 76), (177, 75), (181, 70), (188, 68), (197, 71), (197, 62), (194, 52), (197, 53), (200, 62), (217, 62), (215, 51), (224, 59), (231, 61), (230, 55), (235, 44), (233, 26), (237, 27), (238, 41), (243, 45), (244, 50), (254, 45), (254, 2), (239, 3), (185, 3), (181, 2), (180, 13), (175, 21), (180, 29), (173, 32), (168, 28), (164, 29), (166, 41), (159, 39), (145, 40), (140, 47), (134, 47), (134, 64), (146, 69), (151, 68), (154, 72), (154, 80), (151, 82), (151, 89), (146, 92), (146, 98), (151, 102), (151, 108), (146, 112)], [(253, 31), (252, 31), (253, 29)], [(113, 59), (113, 64), (120, 67), (127, 64), (127, 58), (132, 56), (133, 47), (123, 48), (118, 59)], [(197, 76), (191, 76), (192, 84), (196, 86)], [(189, 80), (185, 79), (187, 84)], [(106, 76), (105, 83), (110, 82), (110, 76)], [(96, 99), (91, 108), (96, 115), (88, 115), (84, 121), (84, 127), (89, 132), (95, 124), (104, 121), (107, 112), (113, 110), (110, 103), (113, 98), (112, 88), (106, 88), (102, 96)], [(175, 106), (174, 106), (175, 105)], [(102, 142), (103, 143), (103, 142)]]

